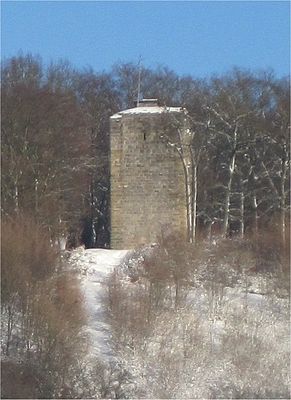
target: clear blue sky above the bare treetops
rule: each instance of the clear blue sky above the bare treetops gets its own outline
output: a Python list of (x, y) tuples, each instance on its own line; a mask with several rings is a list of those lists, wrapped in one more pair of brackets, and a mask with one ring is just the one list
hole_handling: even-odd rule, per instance
[(290, 72), (288, 1), (2, 1), (2, 59), (39, 54), (78, 68), (167, 65), (206, 77), (233, 66)]

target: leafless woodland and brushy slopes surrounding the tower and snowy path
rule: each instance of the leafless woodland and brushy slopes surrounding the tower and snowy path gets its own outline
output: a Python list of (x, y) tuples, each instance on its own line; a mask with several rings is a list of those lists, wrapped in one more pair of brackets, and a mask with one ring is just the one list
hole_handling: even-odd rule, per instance
[[(4, 60), (1, 73), (2, 397), (286, 397), (290, 77), (233, 68), (197, 79), (131, 62), (98, 72), (31, 54)], [(110, 247), (109, 118), (135, 106), (139, 78), (143, 98), (187, 110), (187, 143), (175, 120), (161, 140), (187, 165), (189, 243), (161, 232), (108, 278), (104, 307), (123, 357), (109, 388), (101, 361), (88, 370), (83, 359), (69, 253)]]

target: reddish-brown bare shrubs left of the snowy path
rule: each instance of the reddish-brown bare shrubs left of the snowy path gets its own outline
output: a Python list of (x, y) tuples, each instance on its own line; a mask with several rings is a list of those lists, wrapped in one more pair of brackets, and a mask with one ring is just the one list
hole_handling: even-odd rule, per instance
[(62, 398), (67, 387), (73, 397), (75, 366), (86, 350), (78, 281), (61, 273), (48, 234), (32, 219), (5, 220), (2, 232), (2, 352), (11, 372), (3, 394), (13, 398), (10, 380), (28, 370), (32, 398)]

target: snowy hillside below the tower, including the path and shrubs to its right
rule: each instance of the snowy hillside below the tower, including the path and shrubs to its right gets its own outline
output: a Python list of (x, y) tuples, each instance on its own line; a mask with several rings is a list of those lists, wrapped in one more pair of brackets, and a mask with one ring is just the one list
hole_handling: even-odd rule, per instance
[[(272, 274), (247, 273), (243, 258), (243, 272), (235, 271), (232, 251), (213, 270), (209, 258), (221, 246), (204, 249), (208, 264), (189, 260), (178, 303), (172, 272), (159, 273), (160, 246), (72, 253), (106, 396), (286, 398), (288, 292), (276, 288)], [(167, 265), (178, 250), (171, 249)]]

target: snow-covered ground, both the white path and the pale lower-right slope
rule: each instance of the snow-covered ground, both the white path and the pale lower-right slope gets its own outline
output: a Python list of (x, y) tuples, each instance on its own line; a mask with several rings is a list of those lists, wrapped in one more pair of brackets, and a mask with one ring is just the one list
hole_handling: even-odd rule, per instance
[[(150, 251), (144, 250), (145, 254)], [(282, 398), (288, 380), (288, 299), (264, 295), (262, 279), (259, 284), (252, 278), (247, 286), (243, 281), (224, 287), (215, 301), (211, 286), (202, 280), (188, 288), (186, 303), (178, 312), (168, 309), (157, 315), (151, 330), (136, 337), (134, 346), (129, 331), (130, 346), (123, 338), (122, 346), (114, 350), (112, 335), (118, 341), (118, 331), (113, 332), (116, 327), (109, 325), (106, 315), (106, 278), (120, 266), (123, 293), (138, 294), (143, 278), (129, 278), (138, 275), (144, 252), (131, 256), (127, 250), (70, 252), (87, 311), (90, 348), (85, 363), (89, 369), (95, 363), (99, 370), (99, 360), (105, 371), (106, 391), (102, 391), (104, 384), (94, 387), (96, 377), (91, 375), (91, 393), (101, 393), (103, 398), (209, 398), (213, 393), (227, 394), (224, 386), (229, 386), (230, 397), (237, 391), (242, 398), (253, 393)], [(132, 302), (127, 304), (125, 316), (132, 311)]]

